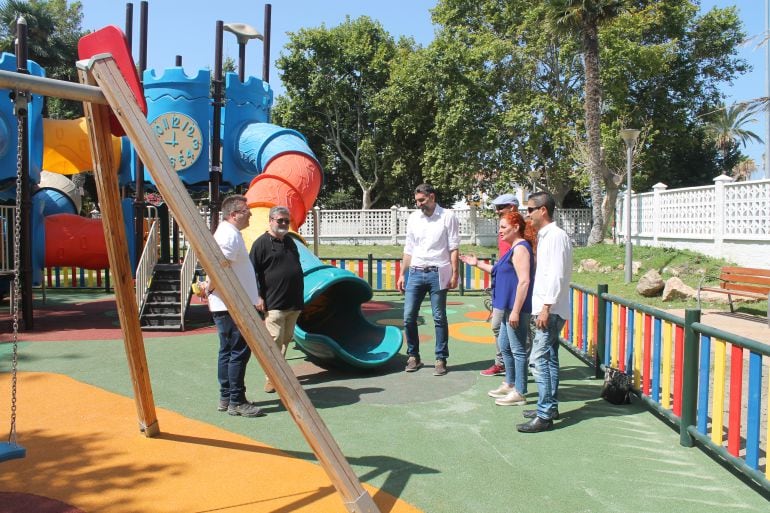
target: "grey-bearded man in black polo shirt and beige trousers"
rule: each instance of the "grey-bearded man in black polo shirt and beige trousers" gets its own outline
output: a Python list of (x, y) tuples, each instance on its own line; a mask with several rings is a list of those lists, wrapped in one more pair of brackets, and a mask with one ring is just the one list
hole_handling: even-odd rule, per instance
[[(289, 223), (288, 208), (271, 208), (269, 228), (254, 241), (249, 253), (264, 300), (265, 327), (284, 356), (304, 304), (302, 266), (294, 239), (287, 237)], [(275, 392), (269, 379), (265, 392)]]

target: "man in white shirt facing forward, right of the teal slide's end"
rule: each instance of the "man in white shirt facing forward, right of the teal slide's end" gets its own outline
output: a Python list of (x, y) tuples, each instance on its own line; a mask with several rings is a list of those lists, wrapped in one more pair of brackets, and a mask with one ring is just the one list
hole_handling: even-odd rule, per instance
[(414, 372), (422, 367), (417, 315), (425, 294), (429, 293), (436, 330), (433, 375), (443, 376), (449, 357), (446, 296), (459, 279), (460, 223), (452, 212), (436, 203), (436, 190), (430, 184), (417, 186), (414, 201), (418, 210), (407, 221), (404, 258), (396, 282), (398, 290), (405, 294), (404, 331), (409, 356), (405, 370)]

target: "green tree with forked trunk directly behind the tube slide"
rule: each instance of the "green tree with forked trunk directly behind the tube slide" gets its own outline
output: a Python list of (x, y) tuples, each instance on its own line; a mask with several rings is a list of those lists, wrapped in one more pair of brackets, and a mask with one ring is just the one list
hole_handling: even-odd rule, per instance
[(327, 184), (331, 179), (333, 189), (345, 189), (352, 178), (361, 191), (361, 207), (371, 208), (397, 157), (378, 108), (396, 42), (378, 22), (362, 16), (290, 34), (285, 51), (276, 63), (286, 89), (276, 103), (276, 121), (321, 143), (321, 153), (330, 157)]

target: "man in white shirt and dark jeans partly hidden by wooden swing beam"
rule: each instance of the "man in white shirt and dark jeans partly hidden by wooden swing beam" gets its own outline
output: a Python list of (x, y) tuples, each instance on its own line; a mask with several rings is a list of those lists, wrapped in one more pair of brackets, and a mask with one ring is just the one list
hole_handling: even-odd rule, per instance
[[(254, 267), (249, 260), (246, 243), (241, 230), (249, 226), (251, 211), (246, 205), (246, 198), (241, 195), (228, 196), (222, 202), (223, 222), (219, 223), (214, 233), (214, 240), (230, 261), (230, 267), (241, 282), (249, 301), (262, 309)], [(246, 344), (238, 326), (227, 311), (227, 305), (217, 294), (216, 283), (206, 287), (209, 310), (219, 334), (219, 360), (217, 377), (219, 378), (219, 411), (242, 417), (261, 417), (262, 410), (246, 399), (246, 364), (251, 357), (251, 350)]]

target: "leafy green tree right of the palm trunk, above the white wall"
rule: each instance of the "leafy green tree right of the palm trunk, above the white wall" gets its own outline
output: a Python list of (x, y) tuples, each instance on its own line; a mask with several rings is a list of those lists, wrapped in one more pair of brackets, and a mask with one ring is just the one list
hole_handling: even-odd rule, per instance
[(737, 58), (746, 35), (736, 8), (700, 13), (690, 0), (640, 2), (601, 32), (605, 155), (624, 158), (620, 128), (646, 127), (634, 189), (711, 183), (721, 164), (703, 116), (722, 104), (721, 86), (748, 69)]

